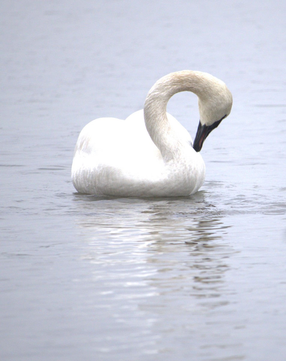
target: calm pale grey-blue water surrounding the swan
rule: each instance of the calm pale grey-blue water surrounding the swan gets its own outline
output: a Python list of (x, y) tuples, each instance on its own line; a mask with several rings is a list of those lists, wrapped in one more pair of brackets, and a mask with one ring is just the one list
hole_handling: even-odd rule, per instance
[[(0, 6), (1, 360), (285, 360), (285, 1)], [(201, 190), (77, 194), (82, 127), (183, 69), (233, 93)], [(168, 111), (194, 138), (196, 97)]]

